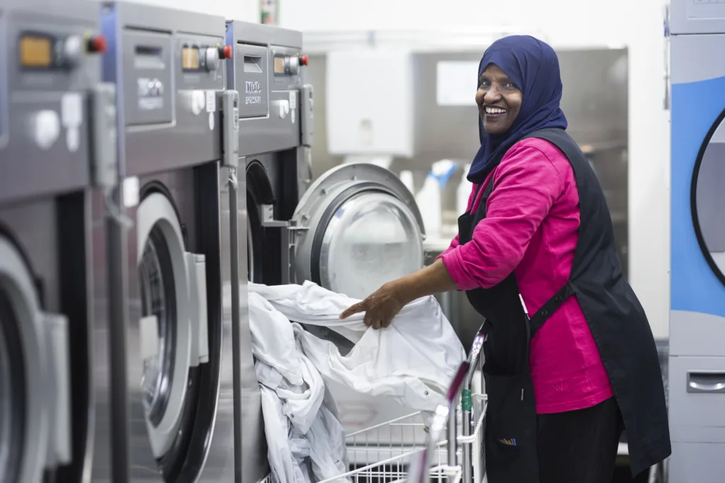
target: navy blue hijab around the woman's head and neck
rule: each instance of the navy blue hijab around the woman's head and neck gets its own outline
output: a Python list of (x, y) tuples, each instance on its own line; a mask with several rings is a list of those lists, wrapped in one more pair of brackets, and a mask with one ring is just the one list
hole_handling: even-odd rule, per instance
[(547, 43), (528, 35), (511, 35), (489, 46), (479, 64), (479, 78), (495, 64), (523, 93), (523, 102), (507, 132), (492, 135), (484, 130), (479, 116), (481, 148), (468, 172), (468, 180), (481, 184), (500, 162), (506, 151), (523, 136), (545, 127), (566, 129), (566, 117), (559, 107), (561, 75), (559, 59)]

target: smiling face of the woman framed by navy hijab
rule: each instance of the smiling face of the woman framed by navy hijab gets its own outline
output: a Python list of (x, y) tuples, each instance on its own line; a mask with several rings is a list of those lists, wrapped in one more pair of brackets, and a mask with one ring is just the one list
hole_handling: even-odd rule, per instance
[(505, 133), (516, 120), (522, 101), (523, 94), (505, 72), (494, 64), (486, 67), (476, 91), (476, 104), (486, 133)]

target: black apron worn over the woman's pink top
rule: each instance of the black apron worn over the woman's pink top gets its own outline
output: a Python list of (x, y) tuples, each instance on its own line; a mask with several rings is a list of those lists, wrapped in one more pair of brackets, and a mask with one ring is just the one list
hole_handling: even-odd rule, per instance
[[(568, 158), (579, 191), (579, 240), (568, 282), (531, 319), (524, 310), (513, 273), (494, 287), (466, 291), (473, 308), (486, 318), (484, 377), (489, 399), (484, 438), (488, 481), (539, 482), (529, 343), (571, 295), (576, 295), (597, 343), (624, 419), (631, 471), (639, 474), (671, 453), (652, 329), (624, 279), (609, 209), (589, 161), (565, 130), (539, 130), (526, 138), (548, 140)], [(483, 189), (479, 209), (458, 219), (461, 245), (471, 241), (473, 229), (486, 217), (492, 180)]]

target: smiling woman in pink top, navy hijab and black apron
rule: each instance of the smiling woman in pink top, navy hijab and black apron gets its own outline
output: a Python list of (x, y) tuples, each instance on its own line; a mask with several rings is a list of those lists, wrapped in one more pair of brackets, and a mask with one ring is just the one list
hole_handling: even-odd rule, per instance
[(458, 235), (342, 316), (364, 311), (379, 329), (416, 298), (465, 290), (486, 319), (489, 483), (610, 483), (623, 427), (640, 473), (670, 454), (660, 363), (602, 187), (566, 133), (558, 57), (515, 35), (478, 75), (481, 148)]

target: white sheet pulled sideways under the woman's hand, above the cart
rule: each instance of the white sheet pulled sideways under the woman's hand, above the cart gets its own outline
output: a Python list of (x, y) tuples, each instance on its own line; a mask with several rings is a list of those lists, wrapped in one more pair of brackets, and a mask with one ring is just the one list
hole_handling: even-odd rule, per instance
[[(405, 306), (390, 327), (373, 330), (365, 327), (363, 314), (339, 319), (345, 308), (357, 302), (312, 282), (278, 286), (249, 284), (253, 338), (254, 326), (277, 327), (282, 319), (328, 327), (355, 343), (347, 356), (341, 356), (333, 343), (291, 324), (302, 352), (323, 379), (364, 394), (392, 398), (413, 410), (433, 411), (444, 402), (453, 374), (465, 358), (463, 345), (439, 303), (433, 297), (418, 299)], [(289, 329), (279, 327), (276, 334), (289, 340)], [(278, 361), (276, 357), (271, 359)]]

